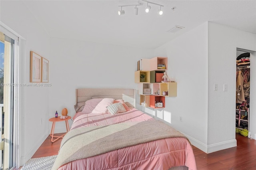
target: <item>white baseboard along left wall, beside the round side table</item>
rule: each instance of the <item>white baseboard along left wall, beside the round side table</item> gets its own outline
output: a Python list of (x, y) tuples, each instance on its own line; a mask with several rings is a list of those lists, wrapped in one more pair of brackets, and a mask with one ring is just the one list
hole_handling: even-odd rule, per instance
[(38, 150), (38, 148), (41, 146), (41, 144), (44, 142), (44, 140), (47, 138), (49, 134), (45, 134), (42, 136), (40, 140), (38, 140), (38, 143), (35, 143), (34, 146), (30, 148), (30, 150), (24, 155), (20, 157), (20, 165), (23, 166)]

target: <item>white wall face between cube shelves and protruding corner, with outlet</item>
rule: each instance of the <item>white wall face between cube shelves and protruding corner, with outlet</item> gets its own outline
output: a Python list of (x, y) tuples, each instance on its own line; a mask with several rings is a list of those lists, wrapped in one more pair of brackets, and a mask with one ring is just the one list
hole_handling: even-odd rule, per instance
[(204, 151), (208, 121), (207, 27), (204, 23), (155, 50), (155, 55), (168, 57), (167, 75), (175, 77), (178, 86), (177, 97), (166, 97), (164, 112), (171, 115), (174, 128)]

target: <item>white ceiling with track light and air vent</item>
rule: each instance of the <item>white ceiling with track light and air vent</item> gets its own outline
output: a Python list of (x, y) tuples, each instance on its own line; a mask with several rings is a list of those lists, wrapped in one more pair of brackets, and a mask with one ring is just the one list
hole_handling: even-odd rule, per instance
[[(150, 1), (150, 0), (149, 0)], [(206, 22), (256, 34), (256, 0), (151, 0), (150, 4), (122, 9), (137, 0), (27, 0), (23, 1), (50, 37), (154, 49)], [(172, 7), (176, 10), (172, 10)], [(175, 25), (182, 30), (168, 32)]]

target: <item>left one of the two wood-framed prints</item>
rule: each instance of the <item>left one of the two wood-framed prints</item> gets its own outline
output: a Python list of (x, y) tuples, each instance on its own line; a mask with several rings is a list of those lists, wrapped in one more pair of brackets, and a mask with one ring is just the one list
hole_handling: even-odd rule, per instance
[(30, 82), (41, 82), (42, 57), (30, 51)]

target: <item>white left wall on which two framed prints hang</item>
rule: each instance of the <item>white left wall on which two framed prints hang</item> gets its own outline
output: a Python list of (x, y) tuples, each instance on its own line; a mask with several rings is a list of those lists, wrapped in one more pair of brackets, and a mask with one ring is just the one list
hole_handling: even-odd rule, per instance
[[(1, 1), (1, 22), (21, 35), (20, 83), (30, 84), (30, 51), (50, 58), (49, 36), (20, 1)], [(48, 136), (48, 87), (20, 88), (20, 165), (24, 164)], [(42, 119), (42, 124), (41, 124)]]

